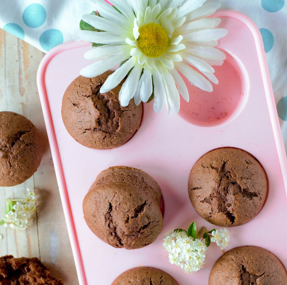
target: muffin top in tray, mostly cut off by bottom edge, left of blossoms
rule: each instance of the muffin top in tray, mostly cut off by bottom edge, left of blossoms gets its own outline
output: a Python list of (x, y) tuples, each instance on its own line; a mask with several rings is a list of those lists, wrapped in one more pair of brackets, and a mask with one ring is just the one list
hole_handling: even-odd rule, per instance
[(122, 273), (112, 285), (178, 285), (166, 272), (154, 267), (135, 267)]

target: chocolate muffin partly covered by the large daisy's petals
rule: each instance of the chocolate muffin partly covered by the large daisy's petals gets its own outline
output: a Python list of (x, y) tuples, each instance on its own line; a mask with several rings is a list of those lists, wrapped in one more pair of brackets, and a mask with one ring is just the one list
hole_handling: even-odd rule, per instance
[(77, 77), (67, 88), (62, 118), (69, 134), (92, 149), (113, 149), (126, 143), (139, 129), (142, 104), (133, 99), (127, 107), (119, 102), (123, 82), (107, 93), (100, 88), (112, 71), (94, 77)]

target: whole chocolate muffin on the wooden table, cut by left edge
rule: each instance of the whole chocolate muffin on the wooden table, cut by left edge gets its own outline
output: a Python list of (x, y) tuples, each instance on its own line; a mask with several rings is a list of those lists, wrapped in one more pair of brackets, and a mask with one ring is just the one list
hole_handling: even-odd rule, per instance
[(42, 143), (31, 121), (13, 112), (0, 112), (0, 186), (23, 183), (36, 172)]

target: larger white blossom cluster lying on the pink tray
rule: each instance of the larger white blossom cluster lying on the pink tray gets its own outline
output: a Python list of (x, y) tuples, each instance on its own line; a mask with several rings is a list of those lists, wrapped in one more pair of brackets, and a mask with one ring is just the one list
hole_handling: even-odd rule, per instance
[(168, 251), (169, 262), (180, 266), (187, 273), (193, 273), (203, 267), (207, 247), (199, 238), (193, 240), (184, 231), (173, 232), (164, 238), (163, 248)]

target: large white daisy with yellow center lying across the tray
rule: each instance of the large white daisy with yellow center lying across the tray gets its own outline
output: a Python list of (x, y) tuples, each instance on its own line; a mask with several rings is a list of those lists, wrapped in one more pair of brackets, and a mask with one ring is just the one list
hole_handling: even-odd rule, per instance
[[(83, 30), (81, 37), (100, 46), (85, 53), (97, 60), (80, 72), (95, 77), (124, 61), (102, 85), (100, 92), (115, 88), (127, 75), (119, 100), (123, 107), (134, 98), (147, 102), (154, 93), (154, 110), (166, 104), (168, 114), (179, 112), (180, 95), (189, 101), (181, 74), (194, 86), (211, 92), (218, 84), (212, 66), (221, 65), (225, 54), (216, 49), (227, 34), (216, 28), (219, 18), (206, 18), (220, 7), (206, 0), (90, 0), (100, 16), (82, 19), (95, 31)], [(115, 9), (117, 8), (117, 9)]]

